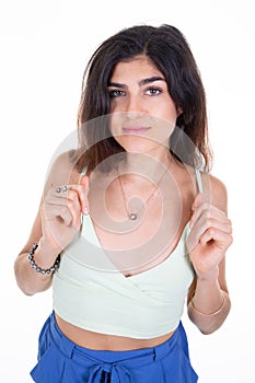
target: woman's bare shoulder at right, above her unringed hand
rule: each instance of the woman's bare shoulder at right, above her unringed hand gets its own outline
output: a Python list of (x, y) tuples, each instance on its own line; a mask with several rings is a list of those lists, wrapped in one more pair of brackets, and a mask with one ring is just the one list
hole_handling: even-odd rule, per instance
[(228, 190), (221, 179), (215, 175), (202, 173), (202, 186), (208, 201), (218, 209), (227, 212)]

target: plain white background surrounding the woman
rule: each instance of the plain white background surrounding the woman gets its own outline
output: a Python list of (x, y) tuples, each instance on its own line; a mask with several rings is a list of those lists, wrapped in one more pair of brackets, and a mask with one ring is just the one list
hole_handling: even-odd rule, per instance
[[(13, 262), (33, 223), (51, 155), (76, 129), (84, 66), (97, 45), (134, 24), (177, 26), (207, 90), (212, 174), (229, 190), (234, 243), (227, 275), (232, 311), (210, 336), (184, 315), (200, 383), (255, 382), (253, 0), (0, 3), (0, 379), (28, 383), (51, 292), (25, 297)], [(142, 383), (142, 382), (141, 382)]]

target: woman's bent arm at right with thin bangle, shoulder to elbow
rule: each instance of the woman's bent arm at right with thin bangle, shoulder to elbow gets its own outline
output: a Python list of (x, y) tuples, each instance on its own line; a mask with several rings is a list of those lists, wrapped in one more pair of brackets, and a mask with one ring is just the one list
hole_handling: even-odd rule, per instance
[[(217, 330), (227, 318), (231, 302), (225, 281), (225, 251), (232, 243), (227, 216), (227, 190), (209, 176), (210, 194), (198, 194), (193, 204), (187, 246), (196, 272), (188, 293), (188, 316), (202, 334)], [(210, 200), (206, 196), (210, 195)], [(208, 199), (208, 198), (207, 198)]]

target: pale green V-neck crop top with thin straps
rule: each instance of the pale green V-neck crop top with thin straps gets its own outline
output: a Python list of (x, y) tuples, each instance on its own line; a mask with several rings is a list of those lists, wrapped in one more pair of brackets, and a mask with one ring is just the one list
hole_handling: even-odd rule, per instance
[[(199, 172), (197, 182), (201, 192)], [(188, 233), (187, 223), (165, 260), (126, 277), (101, 247), (91, 217), (83, 216), (81, 232), (62, 252), (54, 274), (54, 310), (65, 321), (96, 333), (149, 339), (174, 330), (194, 279)]]

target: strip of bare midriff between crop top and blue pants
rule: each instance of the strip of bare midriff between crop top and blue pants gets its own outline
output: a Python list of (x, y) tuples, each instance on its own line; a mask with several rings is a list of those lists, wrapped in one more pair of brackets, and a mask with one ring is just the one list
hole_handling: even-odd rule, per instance
[(58, 327), (76, 345), (92, 350), (126, 351), (155, 347), (166, 341), (173, 334), (169, 333), (151, 339), (135, 339), (116, 335), (90, 332), (77, 327), (55, 313)]

